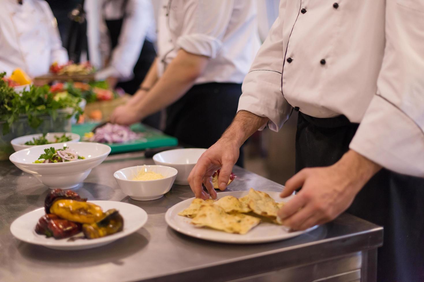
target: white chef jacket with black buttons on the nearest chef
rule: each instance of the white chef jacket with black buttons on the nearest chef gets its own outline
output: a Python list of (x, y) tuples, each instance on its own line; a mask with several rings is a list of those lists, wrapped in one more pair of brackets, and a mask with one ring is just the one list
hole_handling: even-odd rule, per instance
[(424, 177), (424, 1), (282, 0), (238, 110), (360, 123), (350, 148)]

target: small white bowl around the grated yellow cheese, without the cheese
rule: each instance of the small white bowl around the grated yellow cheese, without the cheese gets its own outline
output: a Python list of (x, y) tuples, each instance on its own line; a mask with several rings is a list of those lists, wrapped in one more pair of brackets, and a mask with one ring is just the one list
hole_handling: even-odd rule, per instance
[(172, 187), (177, 170), (162, 165), (146, 165), (148, 171), (162, 174), (165, 178), (157, 180), (131, 180), (143, 166), (126, 167), (116, 171), (113, 176), (124, 194), (137, 201), (150, 201), (161, 198)]

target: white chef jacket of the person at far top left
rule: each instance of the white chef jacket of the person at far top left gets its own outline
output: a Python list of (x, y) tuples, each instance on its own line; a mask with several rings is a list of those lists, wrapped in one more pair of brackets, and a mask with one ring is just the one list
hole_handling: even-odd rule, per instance
[(47, 74), (50, 65), (68, 61), (53, 13), (43, 0), (1, 0), (0, 72), (22, 68), (29, 76)]

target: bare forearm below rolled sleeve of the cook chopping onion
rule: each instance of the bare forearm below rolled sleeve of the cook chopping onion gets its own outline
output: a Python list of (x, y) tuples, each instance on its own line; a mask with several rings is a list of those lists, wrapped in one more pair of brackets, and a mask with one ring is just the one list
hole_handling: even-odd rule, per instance
[[(208, 58), (180, 50), (162, 77), (137, 102), (137, 111), (144, 118), (172, 104), (189, 90), (207, 65)], [(144, 85), (144, 82), (143, 82)]]

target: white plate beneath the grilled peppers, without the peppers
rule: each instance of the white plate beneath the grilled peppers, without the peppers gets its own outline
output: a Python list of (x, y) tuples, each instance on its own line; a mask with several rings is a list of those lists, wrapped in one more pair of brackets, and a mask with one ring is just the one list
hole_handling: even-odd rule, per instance
[[(110, 208), (116, 208), (124, 219), (124, 228), (121, 232), (97, 239), (81, 239), (75, 241), (67, 241), (69, 238), (58, 239), (46, 238), (44, 235), (35, 233), (35, 226), (40, 217), (45, 214), (44, 208), (38, 208), (30, 211), (23, 216), (18, 217), (12, 222), (10, 232), (17, 239), (30, 243), (45, 246), (50, 249), (58, 250), (81, 250), (91, 249), (103, 246), (113, 241), (128, 236), (139, 230), (147, 222), (147, 213), (136, 205), (114, 201), (89, 201), (96, 205), (100, 205), (103, 211)], [(80, 233), (81, 234), (81, 233)], [(78, 235), (78, 234), (77, 234)], [(75, 236), (77, 236), (75, 235)]]

